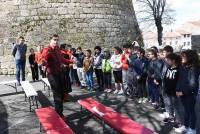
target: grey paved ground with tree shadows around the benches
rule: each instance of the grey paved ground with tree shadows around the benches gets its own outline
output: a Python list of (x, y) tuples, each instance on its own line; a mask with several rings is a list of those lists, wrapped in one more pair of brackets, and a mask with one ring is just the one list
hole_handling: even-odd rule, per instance
[[(0, 76), (0, 81), (13, 80), (14, 77)], [(42, 82), (32, 83), (39, 93), (40, 107), (53, 105), (52, 96), (48, 97), (43, 90)], [(40, 134), (39, 122), (34, 112), (29, 112), (28, 102), (24, 101), (21, 87), (18, 93), (10, 86), (0, 85), (0, 134)], [(73, 87), (71, 102), (64, 104), (64, 114), (69, 126), (76, 134), (113, 134), (108, 126), (103, 131), (101, 122), (87, 114), (80, 113), (77, 100), (80, 98), (94, 97), (103, 104), (114, 108), (116, 111), (128, 115), (133, 120), (154, 130), (159, 134), (174, 134), (172, 126), (162, 123), (155, 111), (148, 104), (138, 104), (136, 99), (116, 96), (103, 92), (89, 93)], [(134, 133), (133, 133), (134, 134)]]

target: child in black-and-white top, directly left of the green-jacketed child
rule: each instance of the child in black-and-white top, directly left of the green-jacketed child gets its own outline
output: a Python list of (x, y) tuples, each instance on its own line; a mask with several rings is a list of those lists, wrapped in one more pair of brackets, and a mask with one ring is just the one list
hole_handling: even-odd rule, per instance
[(103, 54), (101, 53), (101, 47), (96, 46), (94, 48), (95, 55), (94, 55), (94, 71), (97, 78), (97, 84), (99, 91), (103, 90), (103, 72), (101, 69)]

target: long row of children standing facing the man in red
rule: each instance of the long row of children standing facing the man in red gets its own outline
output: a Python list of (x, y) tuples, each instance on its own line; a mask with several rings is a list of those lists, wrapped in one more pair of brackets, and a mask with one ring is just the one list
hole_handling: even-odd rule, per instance
[[(32, 51), (31, 55), (34, 54)], [(96, 46), (94, 54), (92, 50), (83, 51), (81, 47), (68, 51), (73, 61), (69, 65), (73, 84), (89, 91), (135, 96), (138, 103), (148, 102), (155, 109), (165, 109), (163, 121), (173, 123), (176, 132), (200, 134), (196, 125), (200, 115), (195, 112), (195, 104), (199, 108), (197, 104), (200, 103), (197, 103), (200, 98), (197, 97), (200, 96), (200, 66), (195, 50), (174, 53), (171, 46), (165, 46), (162, 50), (152, 47), (145, 51), (127, 43), (122, 49), (113, 47), (112, 51)], [(37, 80), (38, 75), (33, 71), (37, 67), (31, 57), (33, 79)]]

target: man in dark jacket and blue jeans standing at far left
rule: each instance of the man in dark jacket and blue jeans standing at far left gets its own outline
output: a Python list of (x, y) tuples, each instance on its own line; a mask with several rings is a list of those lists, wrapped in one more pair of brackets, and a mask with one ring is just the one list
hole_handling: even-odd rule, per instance
[(25, 66), (26, 66), (26, 51), (27, 45), (24, 43), (24, 37), (19, 37), (19, 43), (13, 48), (12, 55), (15, 57), (16, 63), (16, 79), (20, 86), (20, 71), (22, 71), (22, 81), (25, 81)]

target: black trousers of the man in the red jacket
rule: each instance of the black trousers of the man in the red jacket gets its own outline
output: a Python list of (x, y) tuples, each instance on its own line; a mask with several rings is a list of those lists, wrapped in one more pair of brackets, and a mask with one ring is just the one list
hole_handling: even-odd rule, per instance
[(49, 74), (47, 76), (53, 92), (53, 99), (55, 104), (55, 111), (63, 116), (63, 99), (65, 92), (65, 79), (64, 74)]

